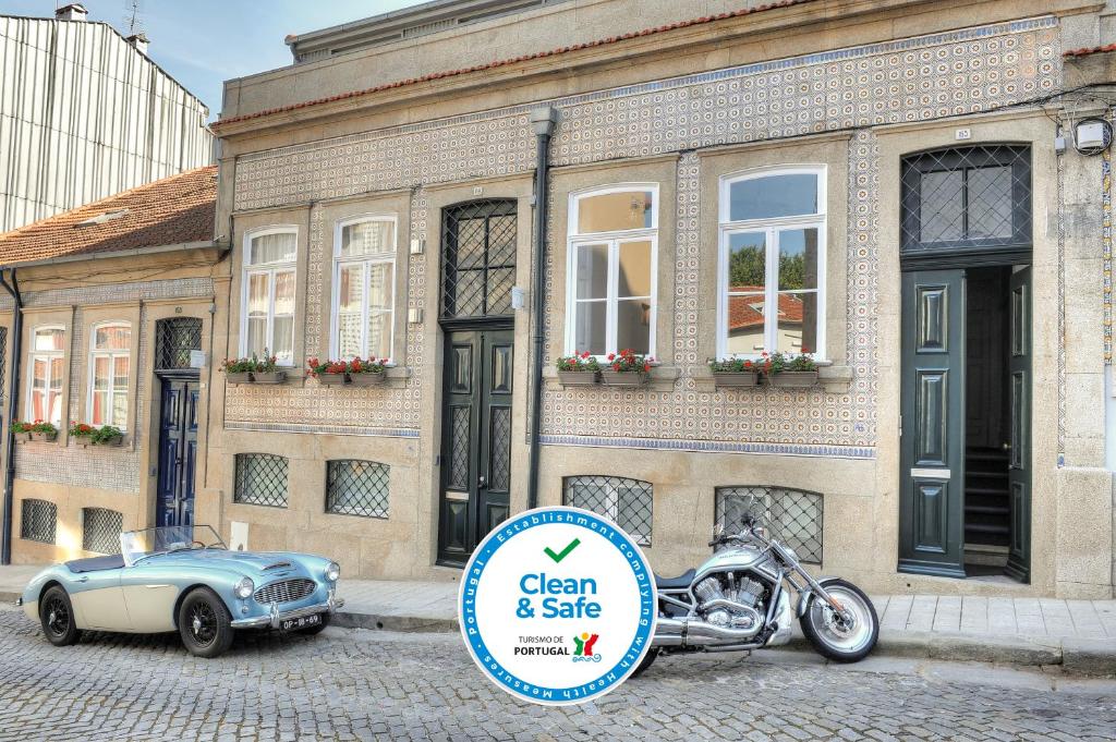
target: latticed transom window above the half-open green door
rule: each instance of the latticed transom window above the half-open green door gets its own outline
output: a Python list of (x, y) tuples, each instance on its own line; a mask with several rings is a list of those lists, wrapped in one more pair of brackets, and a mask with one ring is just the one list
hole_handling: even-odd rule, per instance
[(902, 179), (904, 252), (1031, 243), (1030, 147), (923, 152)]

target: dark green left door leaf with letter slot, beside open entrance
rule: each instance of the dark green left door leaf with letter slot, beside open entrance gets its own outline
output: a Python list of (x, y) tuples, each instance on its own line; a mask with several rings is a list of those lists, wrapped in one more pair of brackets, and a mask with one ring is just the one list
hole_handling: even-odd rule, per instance
[(899, 570), (964, 577), (965, 272), (903, 273)]

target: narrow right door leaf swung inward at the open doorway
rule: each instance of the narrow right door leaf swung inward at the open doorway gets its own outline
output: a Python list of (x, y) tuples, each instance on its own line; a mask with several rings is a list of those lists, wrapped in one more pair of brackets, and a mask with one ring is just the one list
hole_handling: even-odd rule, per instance
[(1031, 269), (1011, 274), (1011, 451), (1008, 468), (1011, 537), (1007, 574), (1030, 581), (1031, 572)]

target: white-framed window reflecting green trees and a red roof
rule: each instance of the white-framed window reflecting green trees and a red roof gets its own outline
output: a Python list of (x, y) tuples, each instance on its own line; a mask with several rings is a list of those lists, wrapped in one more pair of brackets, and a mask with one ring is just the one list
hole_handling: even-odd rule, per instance
[(825, 358), (826, 167), (721, 179), (716, 356)]

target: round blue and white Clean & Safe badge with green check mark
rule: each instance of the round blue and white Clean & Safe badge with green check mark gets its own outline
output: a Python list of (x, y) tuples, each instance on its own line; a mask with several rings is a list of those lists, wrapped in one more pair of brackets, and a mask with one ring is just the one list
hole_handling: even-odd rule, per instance
[(584, 703), (627, 680), (657, 616), (646, 558), (616, 523), (538, 508), (500, 523), (461, 579), (461, 634), (473, 661), (514, 696)]

